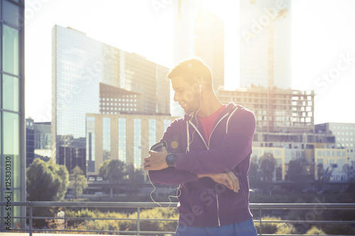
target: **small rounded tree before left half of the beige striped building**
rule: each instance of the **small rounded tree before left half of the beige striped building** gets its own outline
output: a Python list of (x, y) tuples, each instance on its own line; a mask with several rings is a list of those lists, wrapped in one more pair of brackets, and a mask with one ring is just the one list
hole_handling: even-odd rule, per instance
[(115, 182), (126, 179), (126, 164), (118, 159), (107, 159), (100, 165), (99, 176), (104, 180)]

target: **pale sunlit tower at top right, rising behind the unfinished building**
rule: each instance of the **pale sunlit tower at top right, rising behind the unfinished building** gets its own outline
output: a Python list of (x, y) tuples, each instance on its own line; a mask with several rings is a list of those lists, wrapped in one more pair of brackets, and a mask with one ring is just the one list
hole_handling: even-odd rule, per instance
[(290, 0), (240, 1), (240, 86), (291, 87)]

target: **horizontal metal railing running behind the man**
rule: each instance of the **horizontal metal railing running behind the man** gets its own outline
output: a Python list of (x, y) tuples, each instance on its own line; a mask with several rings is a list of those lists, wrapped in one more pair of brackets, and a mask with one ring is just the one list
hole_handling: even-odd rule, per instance
[[(178, 203), (161, 203), (162, 207), (176, 208)], [(6, 202), (0, 202), (0, 206), (6, 206)], [(141, 218), (142, 208), (159, 208), (156, 203), (150, 202), (52, 202), (52, 201), (28, 201), (28, 202), (12, 202), (11, 206), (26, 207), (28, 216), (26, 217), (13, 217), (13, 219), (26, 219), (28, 220), (27, 227), (11, 228), (12, 232), (29, 232), (32, 236), (33, 232), (92, 232), (97, 233), (118, 233), (124, 235), (175, 235), (175, 232), (160, 232), (160, 231), (142, 231), (141, 222), (143, 221), (178, 221), (175, 219), (155, 219), (155, 218)], [(33, 215), (33, 208), (35, 207), (67, 207), (67, 208), (136, 208), (137, 218), (71, 218), (71, 217), (40, 217)], [(316, 220), (317, 215), (321, 215), (325, 210), (355, 210), (355, 203), (251, 203), (250, 209), (254, 212), (254, 223), (258, 225), (258, 235), (263, 234), (263, 225), (267, 223), (287, 223), (287, 224), (348, 224), (355, 225), (355, 221), (344, 220)], [(262, 220), (262, 210), (308, 210), (305, 213), (305, 218), (302, 220)], [(256, 215), (255, 211), (258, 212)], [(3, 217), (1, 217), (3, 218)], [(122, 231), (122, 230), (58, 230), (58, 229), (38, 229), (33, 227), (34, 219), (56, 219), (56, 220), (134, 220), (136, 221), (137, 230)], [(2, 230), (2, 231), (1, 231)], [(0, 232), (6, 232), (0, 229)], [(293, 235), (297, 236), (297, 235)]]

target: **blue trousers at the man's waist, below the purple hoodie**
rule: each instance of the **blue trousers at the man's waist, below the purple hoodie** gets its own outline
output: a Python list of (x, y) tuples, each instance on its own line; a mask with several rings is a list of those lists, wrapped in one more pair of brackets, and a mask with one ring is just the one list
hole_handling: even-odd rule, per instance
[(257, 236), (253, 219), (221, 227), (185, 227), (178, 225), (175, 236)]

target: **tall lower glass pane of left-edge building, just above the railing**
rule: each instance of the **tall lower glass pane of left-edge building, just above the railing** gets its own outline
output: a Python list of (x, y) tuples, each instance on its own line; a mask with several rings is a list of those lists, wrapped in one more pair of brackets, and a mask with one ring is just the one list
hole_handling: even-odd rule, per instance
[[(4, 112), (4, 159), (11, 162), (11, 188), (19, 188), (21, 183), (20, 130), (16, 113)], [(4, 162), (5, 163), (5, 162)]]

